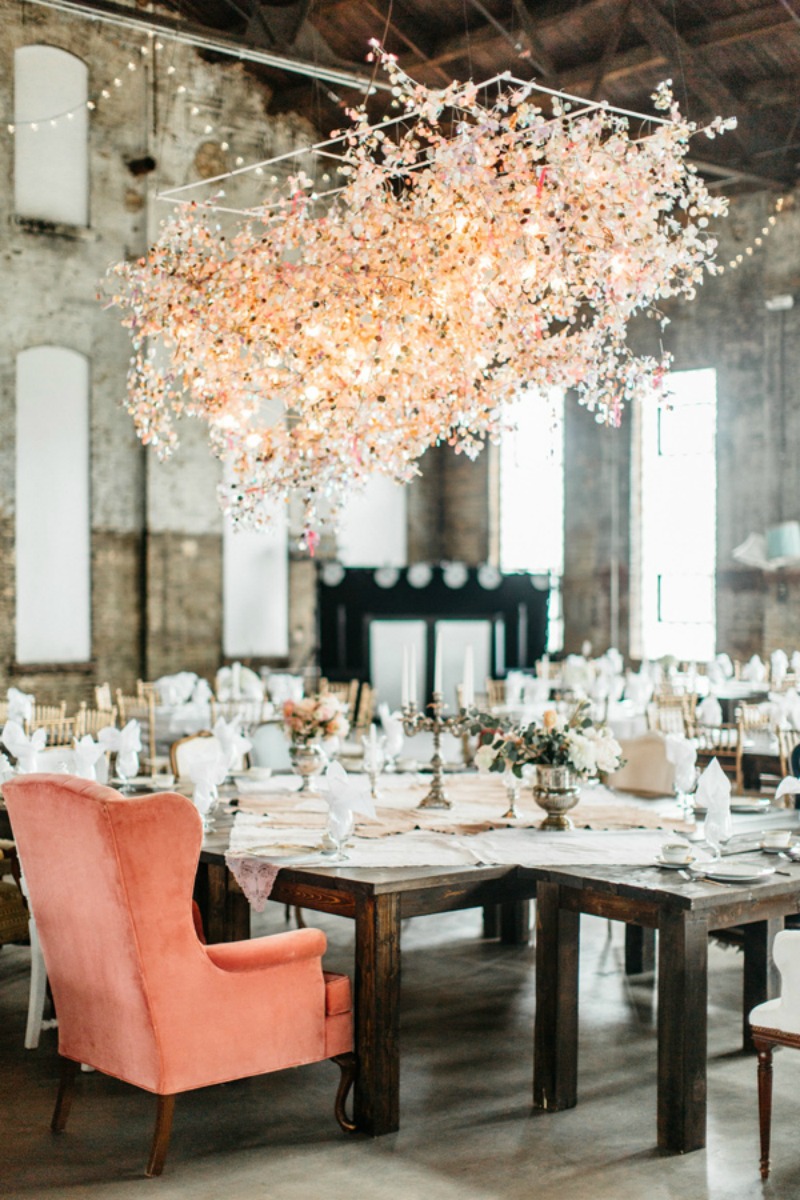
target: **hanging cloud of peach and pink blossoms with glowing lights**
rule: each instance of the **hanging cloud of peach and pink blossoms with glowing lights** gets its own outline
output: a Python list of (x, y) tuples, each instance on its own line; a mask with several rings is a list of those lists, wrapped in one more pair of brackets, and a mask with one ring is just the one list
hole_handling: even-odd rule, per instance
[(433, 90), (375, 53), (402, 119), (349, 114), (325, 143), (344, 184), (324, 205), (297, 172), (225, 238), (213, 202), (192, 203), (112, 269), (142, 440), (166, 457), (175, 419), (200, 418), (227, 511), (258, 524), (297, 492), (312, 545), (373, 472), (408, 481), (440, 442), (477, 455), (522, 385), (572, 388), (619, 424), (668, 365), (630, 352), (628, 322), (694, 295), (726, 211), (666, 84), (667, 115), (634, 132), (636, 114), (558, 94), (546, 114), (510, 76)]

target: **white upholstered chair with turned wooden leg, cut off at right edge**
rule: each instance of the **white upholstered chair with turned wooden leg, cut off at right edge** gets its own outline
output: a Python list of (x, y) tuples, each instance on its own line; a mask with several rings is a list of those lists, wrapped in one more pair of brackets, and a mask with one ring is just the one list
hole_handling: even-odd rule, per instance
[(762, 1180), (770, 1174), (772, 1128), (772, 1051), (776, 1046), (800, 1050), (800, 930), (784, 929), (772, 943), (772, 961), (781, 974), (781, 994), (757, 1004), (750, 1014), (758, 1052), (758, 1123)]

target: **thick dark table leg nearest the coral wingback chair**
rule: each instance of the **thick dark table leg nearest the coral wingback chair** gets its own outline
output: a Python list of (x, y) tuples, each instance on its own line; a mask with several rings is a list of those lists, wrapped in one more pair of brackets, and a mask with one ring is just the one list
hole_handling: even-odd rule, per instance
[(399, 1129), (399, 896), (359, 896), (355, 911), (355, 1120), (378, 1136)]

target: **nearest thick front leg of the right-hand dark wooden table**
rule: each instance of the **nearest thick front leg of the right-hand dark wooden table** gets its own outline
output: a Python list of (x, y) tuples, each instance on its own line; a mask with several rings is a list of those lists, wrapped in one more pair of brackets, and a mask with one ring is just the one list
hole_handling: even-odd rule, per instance
[(658, 922), (658, 1148), (705, 1145), (708, 928), (690, 912)]

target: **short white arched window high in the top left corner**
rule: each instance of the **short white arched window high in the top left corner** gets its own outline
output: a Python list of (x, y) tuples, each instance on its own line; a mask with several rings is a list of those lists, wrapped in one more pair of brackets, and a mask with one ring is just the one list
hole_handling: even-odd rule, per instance
[(14, 209), (60, 224), (89, 223), (89, 72), (54, 46), (14, 50)]

